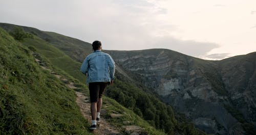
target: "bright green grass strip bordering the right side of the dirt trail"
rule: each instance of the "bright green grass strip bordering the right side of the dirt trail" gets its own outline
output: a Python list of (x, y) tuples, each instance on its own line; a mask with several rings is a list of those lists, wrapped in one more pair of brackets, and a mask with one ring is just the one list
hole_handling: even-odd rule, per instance
[[(76, 91), (89, 95), (87, 86), (82, 84), (85, 82), (86, 77), (80, 72), (81, 63), (74, 61), (65, 53), (55, 48), (52, 43), (42, 40), (37, 36), (34, 36), (34, 38), (25, 38), (22, 43), (35, 53), (38, 53), (42, 59), (45, 60), (45, 63), (47, 63), (46, 65), (48, 66), (48, 69), (52, 69), (58, 74), (70, 78), (69, 81), (74, 82), (78, 87), (75, 89)], [(105, 96), (104, 99), (104, 105), (109, 106), (106, 108), (108, 114), (113, 111), (130, 114), (129, 117), (122, 117), (122, 121), (116, 121), (115, 119), (109, 120), (109, 122), (114, 124), (116, 127), (122, 129), (123, 121), (131, 121), (133, 124), (143, 127), (144, 131), (148, 134), (165, 134), (164, 132), (156, 130), (154, 127), (150, 126), (146, 121), (135, 115), (132, 110), (123, 107), (115, 100)], [(130, 116), (132, 116), (132, 118)]]

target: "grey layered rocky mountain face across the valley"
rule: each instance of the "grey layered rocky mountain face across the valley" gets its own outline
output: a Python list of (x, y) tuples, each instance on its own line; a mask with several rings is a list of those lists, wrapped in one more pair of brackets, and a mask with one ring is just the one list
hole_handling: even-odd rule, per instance
[(209, 61), (164, 49), (106, 52), (207, 133), (243, 134), (245, 123), (255, 130), (256, 53)]

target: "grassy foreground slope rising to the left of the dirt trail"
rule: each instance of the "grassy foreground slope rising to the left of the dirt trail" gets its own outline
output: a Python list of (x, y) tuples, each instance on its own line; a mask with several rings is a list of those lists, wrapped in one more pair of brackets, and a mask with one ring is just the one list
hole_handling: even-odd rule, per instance
[(64, 82), (0, 29), (0, 134), (90, 134)]

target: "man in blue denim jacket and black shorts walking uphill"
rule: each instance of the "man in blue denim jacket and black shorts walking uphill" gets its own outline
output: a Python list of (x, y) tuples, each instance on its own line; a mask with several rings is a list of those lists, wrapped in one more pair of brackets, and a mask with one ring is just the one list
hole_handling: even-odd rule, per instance
[(92, 125), (91, 130), (96, 129), (97, 122), (100, 122), (100, 109), (102, 106), (102, 93), (108, 84), (113, 84), (115, 74), (115, 62), (107, 53), (103, 53), (100, 41), (94, 41), (93, 53), (84, 59), (81, 65), (81, 72), (88, 75)]

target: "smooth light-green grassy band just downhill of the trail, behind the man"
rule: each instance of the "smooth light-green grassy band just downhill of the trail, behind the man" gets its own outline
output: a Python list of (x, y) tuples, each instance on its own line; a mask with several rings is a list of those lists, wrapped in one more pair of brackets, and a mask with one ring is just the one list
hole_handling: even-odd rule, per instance
[[(77, 78), (80, 82), (84, 83), (86, 77), (80, 73), (80, 65), (81, 63), (76, 62), (72, 60), (69, 56), (58, 50), (57, 48), (53, 47), (51, 43), (46, 42), (39, 37), (34, 36), (34, 38), (26, 38), (22, 41), (25, 46), (28, 47), (33, 47), (36, 52), (41, 54), (42, 56), (46, 57), (49, 59), (49, 62), (53, 64), (54, 66), (57, 66), (59, 69), (69, 73), (74, 78)], [(63, 64), (66, 65), (63, 65)], [(83, 93), (88, 93), (88, 89), (86, 86), (83, 86), (80, 89), (77, 89), (77, 91), (83, 92)], [(109, 106), (109, 107), (105, 107)], [(110, 119), (110, 122), (117, 127), (122, 127), (123, 121), (130, 121), (132, 122), (131, 124), (139, 125), (143, 128), (145, 128), (145, 131), (150, 134), (165, 134), (164, 132), (160, 130), (156, 130), (154, 127), (152, 127), (150, 124), (148, 124), (146, 121), (138, 117), (136, 114), (134, 114), (133, 111), (123, 107), (120, 105), (118, 102), (116, 102), (113, 99), (104, 97), (104, 106), (103, 106), (109, 116), (110, 114), (115, 111), (119, 112), (121, 114), (129, 114), (129, 116), (124, 115), (122, 118), (117, 118), (117, 119)], [(126, 112), (126, 113), (125, 113)]]

